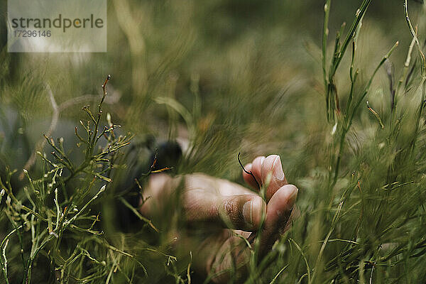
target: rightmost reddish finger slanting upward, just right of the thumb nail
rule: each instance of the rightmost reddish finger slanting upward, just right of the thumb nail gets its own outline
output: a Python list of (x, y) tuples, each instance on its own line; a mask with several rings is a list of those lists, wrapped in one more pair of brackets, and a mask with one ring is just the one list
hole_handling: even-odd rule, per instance
[(289, 228), (288, 220), (295, 206), (297, 192), (294, 185), (284, 185), (269, 201), (261, 236), (261, 254), (271, 250), (275, 241)]

